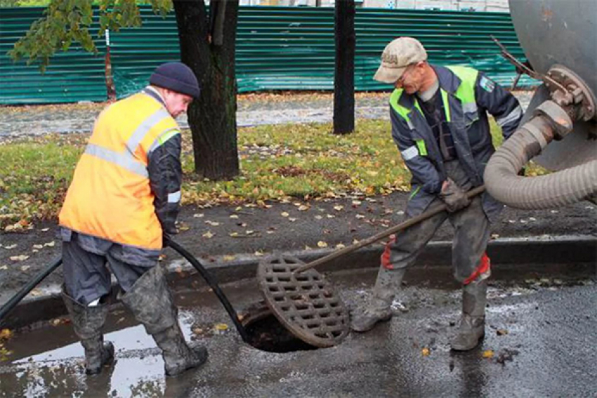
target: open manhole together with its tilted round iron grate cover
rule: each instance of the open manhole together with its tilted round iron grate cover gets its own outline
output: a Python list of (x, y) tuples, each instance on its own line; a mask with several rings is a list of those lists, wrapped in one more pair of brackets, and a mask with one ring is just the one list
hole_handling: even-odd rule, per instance
[(294, 273), (302, 265), (281, 253), (259, 263), (257, 279), (265, 305), (254, 307), (243, 321), (254, 347), (314, 350), (337, 345), (348, 335), (348, 311), (331, 284), (313, 269)]

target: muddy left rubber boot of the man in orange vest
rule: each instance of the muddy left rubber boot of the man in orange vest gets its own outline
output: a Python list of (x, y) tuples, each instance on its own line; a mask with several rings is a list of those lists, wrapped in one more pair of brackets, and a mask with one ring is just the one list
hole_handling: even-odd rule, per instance
[(109, 341), (104, 343), (104, 336), (101, 332), (108, 306), (102, 304), (92, 307), (82, 305), (68, 296), (64, 289), (63, 300), (70, 314), (74, 333), (77, 334), (85, 349), (85, 373), (96, 375), (102, 371), (105, 364), (114, 359), (114, 345)]

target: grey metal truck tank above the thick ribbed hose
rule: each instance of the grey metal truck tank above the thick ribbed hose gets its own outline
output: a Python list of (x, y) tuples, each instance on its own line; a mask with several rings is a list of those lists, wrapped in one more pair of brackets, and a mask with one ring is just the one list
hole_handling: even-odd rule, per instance
[[(593, 95), (597, 93), (597, 1), (510, 0), (510, 13), (520, 46), (532, 67), (546, 74), (553, 65), (575, 72)], [(523, 123), (532, 110), (549, 99), (543, 87), (537, 90)], [(597, 124), (575, 122), (574, 133), (552, 142), (534, 160), (553, 171), (597, 159)]]

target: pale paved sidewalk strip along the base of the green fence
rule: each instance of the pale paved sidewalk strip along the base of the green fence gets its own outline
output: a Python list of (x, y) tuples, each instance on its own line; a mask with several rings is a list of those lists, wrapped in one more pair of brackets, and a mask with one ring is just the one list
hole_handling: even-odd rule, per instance
[[(532, 96), (530, 91), (516, 91), (524, 108)], [(389, 93), (357, 93), (357, 119), (389, 119)], [(0, 140), (47, 133), (88, 133), (105, 103), (0, 107)], [(332, 93), (319, 94), (251, 94), (239, 95), (237, 124), (239, 127), (263, 124), (326, 123), (334, 115)], [(188, 128), (186, 115), (181, 127)]]

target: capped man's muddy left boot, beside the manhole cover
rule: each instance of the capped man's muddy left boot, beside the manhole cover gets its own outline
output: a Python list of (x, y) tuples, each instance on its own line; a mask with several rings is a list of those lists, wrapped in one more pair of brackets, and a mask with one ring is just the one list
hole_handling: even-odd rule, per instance
[(353, 331), (370, 331), (378, 322), (389, 321), (392, 318), (392, 302), (404, 274), (404, 269), (388, 270), (383, 266), (379, 267), (371, 302), (353, 314), (350, 324)]

